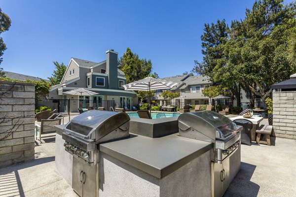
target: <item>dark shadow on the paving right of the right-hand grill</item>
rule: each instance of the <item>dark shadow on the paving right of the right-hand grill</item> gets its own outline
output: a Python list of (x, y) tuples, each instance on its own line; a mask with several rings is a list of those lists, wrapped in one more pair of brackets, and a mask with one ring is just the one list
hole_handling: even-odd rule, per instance
[(257, 197), (260, 186), (250, 181), (255, 169), (256, 165), (242, 162), (239, 172), (223, 197)]

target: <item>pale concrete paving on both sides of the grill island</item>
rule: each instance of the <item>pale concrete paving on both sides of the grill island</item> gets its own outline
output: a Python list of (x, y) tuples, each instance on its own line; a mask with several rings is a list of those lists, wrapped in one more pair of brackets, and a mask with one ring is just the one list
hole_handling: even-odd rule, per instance
[[(34, 161), (0, 169), (0, 197), (78, 197), (56, 171), (55, 138), (42, 141), (36, 141)], [(224, 197), (296, 197), (295, 140), (242, 145), (241, 161)]]

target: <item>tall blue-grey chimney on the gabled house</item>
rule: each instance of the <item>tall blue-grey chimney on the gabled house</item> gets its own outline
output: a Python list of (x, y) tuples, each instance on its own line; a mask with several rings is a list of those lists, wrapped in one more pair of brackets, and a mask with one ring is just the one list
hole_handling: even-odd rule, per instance
[(118, 89), (117, 56), (113, 49), (106, 51), (106, 74), (108, 74), (109, 89)]

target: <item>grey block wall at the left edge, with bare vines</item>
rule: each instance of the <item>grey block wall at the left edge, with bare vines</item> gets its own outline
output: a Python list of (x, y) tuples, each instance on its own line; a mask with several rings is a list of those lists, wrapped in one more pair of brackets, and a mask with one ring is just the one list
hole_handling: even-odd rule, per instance
[(0, 167), (34, 160), (34, 123), (35, 84), (0, 81)]

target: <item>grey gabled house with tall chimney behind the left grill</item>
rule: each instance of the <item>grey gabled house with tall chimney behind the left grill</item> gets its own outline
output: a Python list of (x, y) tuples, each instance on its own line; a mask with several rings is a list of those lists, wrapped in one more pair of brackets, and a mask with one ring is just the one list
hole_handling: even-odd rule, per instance
[[(119, 107), (129, 109), (138, 104), (137, 94), (121, 87), (126, 84), (126, 78), (124, 72), (117, 68), (118, 53), (108, 50), (106, 55), (106, 60), (99, 63), (71, 58), (61, 83), (51, 88), (48, 99), (82, 99), (88, 106), (100, 106), (103, 100), (114, 100)], [(81, 98), (64, 94), (78, 88), (98, 94), (82, 95)]]

